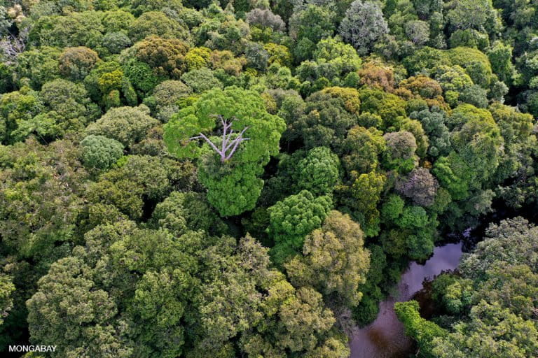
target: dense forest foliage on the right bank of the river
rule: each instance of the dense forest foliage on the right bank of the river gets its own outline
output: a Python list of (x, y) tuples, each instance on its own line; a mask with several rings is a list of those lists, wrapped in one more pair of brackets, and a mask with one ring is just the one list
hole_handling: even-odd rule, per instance
[(444, 314), (437, 324), (420, 317), (416, 301), (396, 303), (396, 313), (424, 357), (534, 357), (537, 260), (537, 227), (522, 217), (492, 224), (462, 260), (460, 275), (434, 280), (433, 296)]

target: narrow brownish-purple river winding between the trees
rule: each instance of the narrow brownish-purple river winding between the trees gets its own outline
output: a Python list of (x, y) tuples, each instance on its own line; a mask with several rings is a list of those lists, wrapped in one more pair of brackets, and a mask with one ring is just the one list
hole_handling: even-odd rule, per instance
[(407, 358), (412, 354), (415, 346), (394, 313), (394, 302), (411, 299), (422, 289), (425, 278), (455, 269), (461, 257), (462, 243), (450, 243), (434, 248), (434, 255), (424, 264), (412, 262), (401, 275), (397, 297), (380, 303), (378, 317), (370, 325), (352, 331), (351, 358)]

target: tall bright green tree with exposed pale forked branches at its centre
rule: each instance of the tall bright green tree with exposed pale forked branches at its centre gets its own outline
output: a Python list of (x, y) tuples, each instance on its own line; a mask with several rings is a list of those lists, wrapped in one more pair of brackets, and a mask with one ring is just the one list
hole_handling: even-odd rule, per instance
[(276, 155), (286, 124), (254, 91), (210, 90), (165, 124), (168, 150), (199, 159), (207, 200), (223, 216), (251, 210), (261, 193), (263, 166)]

